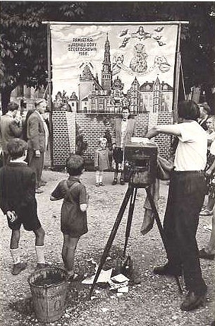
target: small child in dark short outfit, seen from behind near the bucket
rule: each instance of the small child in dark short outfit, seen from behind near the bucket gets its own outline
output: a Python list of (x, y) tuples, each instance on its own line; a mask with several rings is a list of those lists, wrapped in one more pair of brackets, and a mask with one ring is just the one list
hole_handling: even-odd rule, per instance
[(51, 193), (51, 200), (63, 199), (61, 207), (61, 232), (63, 233), (62, 259), (70, 280), (76, 279), (74, 259), (80, 235), (87, 233), (88, 194), (80, 182), (84, 170), (81, 156), (73, 154), (66, 160), (67, 180), (62, 180)]

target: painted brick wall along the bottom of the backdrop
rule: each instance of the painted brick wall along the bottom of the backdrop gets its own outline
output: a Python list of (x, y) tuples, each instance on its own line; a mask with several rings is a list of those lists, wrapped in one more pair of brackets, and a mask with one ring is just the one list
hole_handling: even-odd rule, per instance
[[(75, 122), (83, 135), (83, 140), (87, 141), (87, 151), (83, 157), (87, 161), (93, 161), (94, 151), (97, 149), (99, 138), (106, 132), (111, 134), (115, 115), (93, 115), (85, 113), (73, 113), (66, 111), (54, 111), (52, 115), (53, 125), (53, 159), (52, 168), (63, 168), (66, 158), (70, 153), (75, 153)], [(135, 116), (137, 122), (137, 136), (145, 136), (148, 127), (155, 124), (173, 123), (171, 112), (159, 112), (149, 115), (148, 112)], [(161, 156), (168, 158), (171, 136), (159, 134), (154, 138), (159, 146)]]

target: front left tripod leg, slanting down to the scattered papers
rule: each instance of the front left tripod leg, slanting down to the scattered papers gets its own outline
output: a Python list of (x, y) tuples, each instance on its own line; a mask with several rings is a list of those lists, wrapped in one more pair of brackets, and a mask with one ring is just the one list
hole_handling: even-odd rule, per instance
[(118, 214), (116, 216), (116, 221), (113, 224), (111, 234), (109, 235), (109, 240), (107, 241), (106, 246), (104, 248), (104, 252), (102, 253), (102, 257), (101, 257), (100, 262), (99, 262), (99, 267), (97, 269), (97, 273), (94, 276), (94, 281), (93, 281), (92, 287), (90, 289), (90, 296), (92, 294), (92, 291), (94, 289), (95, 284), (97, 283), (97, 279), (99, 278), (99, 274), (102, 271), (102, 267), (103, 267), (103, 265), (104, 265), (104, 263), (106, 261), (106, 257), (109, 254), (109, 250), (111, 249), (111, 245), (113, 243), (116, 232), (118, 230), (118, 226), (120, 225), (121, 220), (123, 218), (123, 214), (125, 212), (125, 209), (126, 209), (126, 206), (128, 204), (128, 201), (129, 201), (129, 198), (130, 198), (131, 194), (133, 194), (133, 187), (130, 187), (130, 185), (128, 185), (128, 190), (125, 193), (125, 197), (124, 197), (123, 202), (121, 204), (121, 208), (119, 209)]

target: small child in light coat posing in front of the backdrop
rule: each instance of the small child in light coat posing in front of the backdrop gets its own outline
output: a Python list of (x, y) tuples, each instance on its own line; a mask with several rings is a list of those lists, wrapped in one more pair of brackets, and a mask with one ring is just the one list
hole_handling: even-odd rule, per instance
[(99, 148), (95, 151), (94, 154), (94, 168), (96, 170), (96, 186), (104, 186), (102, 182), (104, 176), (104, 170), (107, 170), (110, 167), (109, 163), (109, 149), (106, 147), (107, 139), (99, 139)]

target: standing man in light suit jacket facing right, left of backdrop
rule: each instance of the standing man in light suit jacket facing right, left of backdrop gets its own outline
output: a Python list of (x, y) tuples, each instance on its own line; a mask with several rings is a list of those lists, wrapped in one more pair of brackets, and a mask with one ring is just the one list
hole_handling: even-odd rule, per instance
[(42, 114), (47, 107), (46, 100), (35, 101), (35, 110), (27, 118), (27, 145), (28, 163), (36, 173), (36, 193), (43, 191), (39, 189), (44, 182), (41, 180), (42, 169), (44, 166), (44, 153), (47, 149), (47, 126), (45, 125)]

